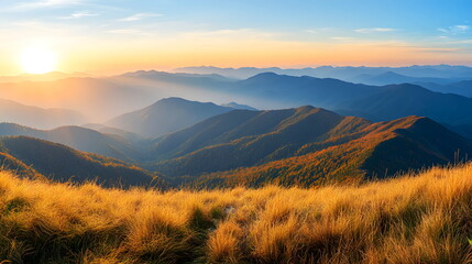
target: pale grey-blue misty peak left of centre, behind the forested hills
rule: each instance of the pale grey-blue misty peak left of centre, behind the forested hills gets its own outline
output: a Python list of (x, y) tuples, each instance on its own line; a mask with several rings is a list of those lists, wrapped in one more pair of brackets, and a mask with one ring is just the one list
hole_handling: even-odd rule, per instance
[(233, 109), (212, 102), (166, 98), (144, 109), (117, 117), (108, 121), (107, 125), (146, 138), (157, 138), (231, 110)]

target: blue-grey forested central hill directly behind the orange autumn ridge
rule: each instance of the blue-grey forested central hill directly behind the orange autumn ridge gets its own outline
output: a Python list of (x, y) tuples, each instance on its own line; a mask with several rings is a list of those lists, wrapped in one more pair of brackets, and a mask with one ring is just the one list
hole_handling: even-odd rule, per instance
[(342, 119), (343, 117), (333, 112), (314, 107), (267, 111), (235, 110), (157, 139), (151, 155), (167, 160), (195, 151), (211, 152), (231, 147), (238, 153), (220, 157), (242, 156), (244, 153), (245, 157), (251, 158), (253, 152), (259, 156), (254, 158), (260, 160), (274, 155), (279, 148), (300, 146), (314, 141), (333, 129)]

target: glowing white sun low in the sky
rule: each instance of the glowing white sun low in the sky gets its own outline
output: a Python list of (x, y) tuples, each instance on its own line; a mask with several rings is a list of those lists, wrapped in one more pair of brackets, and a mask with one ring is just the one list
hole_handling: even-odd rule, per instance
[(47, 48), (29, 47), (21, 54), (21, 66), (28, 74), (46, 74), (56, 67), (57, 56)]

